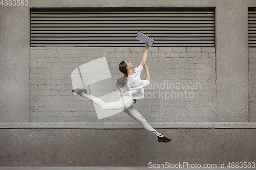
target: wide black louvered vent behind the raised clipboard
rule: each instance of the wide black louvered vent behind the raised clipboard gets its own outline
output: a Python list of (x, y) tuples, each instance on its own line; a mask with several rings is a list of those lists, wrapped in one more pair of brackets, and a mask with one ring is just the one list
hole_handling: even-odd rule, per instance
[(31, 9), (31, 46), (215, 46), (215, 9)]

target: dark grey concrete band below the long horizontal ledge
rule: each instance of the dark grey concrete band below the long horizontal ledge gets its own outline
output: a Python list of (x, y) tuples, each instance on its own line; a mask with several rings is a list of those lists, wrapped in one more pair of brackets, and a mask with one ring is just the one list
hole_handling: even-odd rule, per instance
[(0, 166), (255, 162), (254, 129), (0, 129)]

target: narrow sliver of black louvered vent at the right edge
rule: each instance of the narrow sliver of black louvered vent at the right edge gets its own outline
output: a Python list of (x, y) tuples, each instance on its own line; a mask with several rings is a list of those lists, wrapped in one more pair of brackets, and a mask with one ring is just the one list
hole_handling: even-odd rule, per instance
[(256, 47), (256, 8), (249, 8), (249, 47)]

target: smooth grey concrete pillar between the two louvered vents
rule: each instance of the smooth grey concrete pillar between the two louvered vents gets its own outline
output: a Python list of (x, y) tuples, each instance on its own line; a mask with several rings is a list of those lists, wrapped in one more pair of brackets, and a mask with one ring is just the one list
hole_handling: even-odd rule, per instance
[(217, 122), (249, 120), (247, 20), (246, 6), (216, 8)]

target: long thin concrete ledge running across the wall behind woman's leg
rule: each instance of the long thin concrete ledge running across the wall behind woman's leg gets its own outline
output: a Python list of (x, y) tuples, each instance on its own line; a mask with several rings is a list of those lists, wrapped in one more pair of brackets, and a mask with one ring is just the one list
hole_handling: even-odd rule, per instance
[[(149, 122), (155, 129), (248, 129), (256, 128), (255, 123), (156, 123)], [(137, 122), (60, 122), (60, 123), (0, 123), (0, 129), (143, 129)]]

